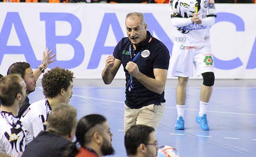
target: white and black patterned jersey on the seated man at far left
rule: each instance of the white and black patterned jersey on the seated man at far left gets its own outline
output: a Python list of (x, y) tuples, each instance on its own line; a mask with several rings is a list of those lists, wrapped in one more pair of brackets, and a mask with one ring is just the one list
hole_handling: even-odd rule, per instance
[(25, 129), (18, 117), (12, 113), (0, 111), (0, 154), (21, 157), (25, 146), (33, 137)]

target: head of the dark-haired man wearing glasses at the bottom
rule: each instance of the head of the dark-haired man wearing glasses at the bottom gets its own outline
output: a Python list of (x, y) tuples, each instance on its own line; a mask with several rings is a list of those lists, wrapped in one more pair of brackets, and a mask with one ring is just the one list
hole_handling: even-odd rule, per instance
[(150, 126), (134, 125), (130, 127), (125, 133), (124, 144), (129, 157), (156, 157), (158, 152), (155, 129)]

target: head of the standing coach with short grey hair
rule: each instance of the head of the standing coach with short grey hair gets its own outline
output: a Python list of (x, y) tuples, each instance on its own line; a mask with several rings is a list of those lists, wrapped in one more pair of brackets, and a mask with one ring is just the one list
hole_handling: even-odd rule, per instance
[(142, 13), (126, 15), (126, 33), (130, 41), (137, 45), (146, 40), (147, 24)]

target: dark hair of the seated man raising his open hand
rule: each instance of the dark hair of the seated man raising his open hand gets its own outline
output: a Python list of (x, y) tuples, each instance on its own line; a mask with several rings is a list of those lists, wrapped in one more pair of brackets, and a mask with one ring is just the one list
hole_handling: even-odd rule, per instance
[(20, 74), (21, 77), (24, 79), (25, 70), (27, 68), (30, 68), (30, 64), (28, 64), (27, 62), (16, 62), (14, 64), (11, 64), (7, 71), (7, 75), (16, 73)]

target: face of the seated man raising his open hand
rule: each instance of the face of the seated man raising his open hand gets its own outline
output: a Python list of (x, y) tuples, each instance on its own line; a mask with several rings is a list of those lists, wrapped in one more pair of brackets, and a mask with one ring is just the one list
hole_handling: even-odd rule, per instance
[(32, 93), (35, 90), (35, 88), (37, 86), (36, 85), (37, 80), (34, 78), (33, 71), (31, 68), (27, 68), (25, 70), (24, 81), (27, 86), (26, 94), (29, 95), (30, 93)]

